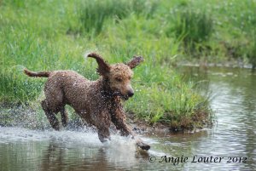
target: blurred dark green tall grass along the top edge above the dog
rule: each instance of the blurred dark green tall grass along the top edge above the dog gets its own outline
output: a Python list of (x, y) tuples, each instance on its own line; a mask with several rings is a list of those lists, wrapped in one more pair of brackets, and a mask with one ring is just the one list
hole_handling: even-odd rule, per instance
[(105, 22), (119, 23), (130, 14), (144, 14), (151, 16), (154, 14), (156, 5), (142, 0), (106, 0), (106, 1), (84, 1), (79, 9), (79, 19), (81, 22), (80, 32), (89, 33), (96, 36), (102, 32)]

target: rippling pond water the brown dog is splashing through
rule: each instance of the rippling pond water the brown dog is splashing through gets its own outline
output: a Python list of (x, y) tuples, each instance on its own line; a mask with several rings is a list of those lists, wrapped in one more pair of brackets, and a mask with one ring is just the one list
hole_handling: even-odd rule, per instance
[[(209, 80), (217, 121), (213, 128), (143, 136), (152, 146), (147, 153), (118, 135), (102, 144), (93, 130), (0, 127), (0, 170), (255, 170), (256, 74), (220, 67), (180, 70), (195, 81)], [(208, 162), (193, 162), (201, 157)]]

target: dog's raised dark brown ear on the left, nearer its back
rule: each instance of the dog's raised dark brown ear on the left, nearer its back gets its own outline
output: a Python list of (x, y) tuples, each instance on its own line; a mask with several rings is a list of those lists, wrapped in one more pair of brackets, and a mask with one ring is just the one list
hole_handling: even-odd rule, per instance
[(87, 55), (87, 57), (96, 59), (96, 61), (98, 63), (97, 72), (100, 75), (105, 76), (106, 73), (108, 73), (110, 71), (110, 66), (108, 65), (108, 63), (105, 60), (102, 59), (101, 55), (96, 54), (96, 53), (90, 53)]

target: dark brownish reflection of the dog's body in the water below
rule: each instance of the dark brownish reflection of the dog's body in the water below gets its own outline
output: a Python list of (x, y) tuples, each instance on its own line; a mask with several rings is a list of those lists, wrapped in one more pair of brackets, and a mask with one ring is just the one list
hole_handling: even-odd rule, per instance
[(43, 151), (40, 169), (47, 170), (102, 170), (108, 168), (105, 160), (106, 153), (102, 147), (99, 149), (63, 147), (51, 142)]

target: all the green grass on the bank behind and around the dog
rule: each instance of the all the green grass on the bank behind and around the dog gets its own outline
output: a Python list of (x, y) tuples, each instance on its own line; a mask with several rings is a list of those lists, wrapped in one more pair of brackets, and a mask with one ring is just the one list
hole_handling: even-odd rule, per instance
[[(148, 123), (193, 128), (210, 113), (207, 97), (173, 70), (181, 60), (243, 60), (255, 66), (255, 0), (0, 1), (0, 101), (32, 104), (44, 78), (33, 71), (78, 71), (96, 79), (98, 51), (110, 63), (145, 57), (125, 110)], [(244, 48), (246, 47), (246, 48)], [(42, 113), (37, 108), (38, 113)]]

